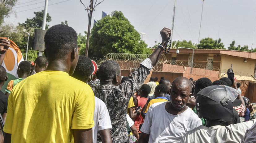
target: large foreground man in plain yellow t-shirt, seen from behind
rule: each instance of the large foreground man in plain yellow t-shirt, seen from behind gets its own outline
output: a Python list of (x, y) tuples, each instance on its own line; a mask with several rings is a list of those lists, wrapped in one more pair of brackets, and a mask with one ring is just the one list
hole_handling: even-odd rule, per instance
[(56, 25), (47, 30), (44, 39), (48, 67), (12, 89), (4, 142), (92, 143), (93, 91), (69, 76), (78, 61), (76, 31)]

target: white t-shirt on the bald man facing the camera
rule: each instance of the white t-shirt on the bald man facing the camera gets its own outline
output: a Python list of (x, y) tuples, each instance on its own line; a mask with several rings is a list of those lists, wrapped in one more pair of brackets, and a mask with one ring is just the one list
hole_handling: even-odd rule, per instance
[(190, 108), (172, 115), (166, 111), (166, 103), (154, 103), (148, 109), (141, 132), (150, 134), (149, 143), (179, 143), (185, 133), (202, 125)]

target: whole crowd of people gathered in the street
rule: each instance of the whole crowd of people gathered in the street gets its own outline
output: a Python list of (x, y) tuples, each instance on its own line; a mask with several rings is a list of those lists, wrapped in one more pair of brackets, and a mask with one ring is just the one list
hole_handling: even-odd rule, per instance
[[(33, 70), (20, 62), (19, 78), (0, 92), (4, 142), (256, 142), (256, 103), (241, 96), (235, 77), (151, 77), (145, 83), (171, 30), (160, 34), (153, 54), (123, 77), (112, 60), (93, 74), (91, 60), (78, 56), (75, 30), (52, 26), (44, 38), (46, 57), (38, 57)], [(1, 38), (0, 63), (9, 46)], [(0, 89), (7, 79), (0, 66)]]

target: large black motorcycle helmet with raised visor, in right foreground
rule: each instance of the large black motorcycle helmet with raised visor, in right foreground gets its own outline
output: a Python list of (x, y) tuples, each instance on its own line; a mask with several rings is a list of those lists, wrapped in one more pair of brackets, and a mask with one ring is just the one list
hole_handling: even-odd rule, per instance
[(232, 101), (239, 91), (226, 85), (212, 85), (197, 93), (196, 110), (199, 118), (228, 122), (234, 117)]

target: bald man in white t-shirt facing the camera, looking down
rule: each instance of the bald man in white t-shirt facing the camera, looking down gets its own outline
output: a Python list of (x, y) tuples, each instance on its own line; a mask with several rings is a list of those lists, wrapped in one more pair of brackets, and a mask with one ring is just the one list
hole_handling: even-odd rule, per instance
[(186, 77), (177, 77), (171, 85), (171, 101), (150, 106), (141, 127), (138, 143), (179, 143), (182, 136), (202, 121), (186, 106), (191, 83)]

